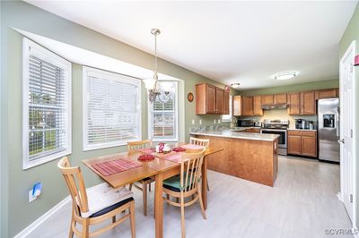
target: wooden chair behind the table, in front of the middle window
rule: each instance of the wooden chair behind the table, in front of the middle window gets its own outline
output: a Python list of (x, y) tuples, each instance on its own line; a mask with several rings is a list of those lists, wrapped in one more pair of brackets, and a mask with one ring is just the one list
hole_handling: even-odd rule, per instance
[[(152, 140), (138, 140), (127, 142), (128, 153), (136, 152), (140, 149), (148, 149), (152, 145)], [(154, 182), (152, 177), (144, 178), (136, 183), (131, 183), (129, 185), (129, 190), (132, 190), (132, 186), (136, 189), (142, 191), (142, 197), (144, 202), (144, 216), (147, 216), (147, 187), (148, 191), (151, 191), (151, 183)]]

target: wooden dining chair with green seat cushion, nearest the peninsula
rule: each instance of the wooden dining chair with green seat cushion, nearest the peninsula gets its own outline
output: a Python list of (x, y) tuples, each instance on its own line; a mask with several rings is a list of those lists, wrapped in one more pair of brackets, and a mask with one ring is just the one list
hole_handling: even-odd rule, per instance
[[(180, 163), (180, 174), (163, 181), (163, 192), (166, 193), (166, 197), (163, 200), (175, 207), (180, 207), (182, 238), (186, 236), (185, 207), (199, 200), (202, 216), (206, 219), (201, 188), (198, 186), (202, 179), (204, 154), (205, 149), (197, 153), (183, 153), (183, 161)], [(176, 198), (176, 200), (171, 200), (170, 196)]]

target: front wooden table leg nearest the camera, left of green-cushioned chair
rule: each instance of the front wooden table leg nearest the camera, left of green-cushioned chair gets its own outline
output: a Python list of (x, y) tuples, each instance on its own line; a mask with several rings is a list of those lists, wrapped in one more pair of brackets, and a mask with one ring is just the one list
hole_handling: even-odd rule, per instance
[(154, 217), (155, 217), (155, 230), (156, 238), (163, 237), (163, 198), (162, 198), (162, 173), (155, 176), (155, 196), (154, 196)]

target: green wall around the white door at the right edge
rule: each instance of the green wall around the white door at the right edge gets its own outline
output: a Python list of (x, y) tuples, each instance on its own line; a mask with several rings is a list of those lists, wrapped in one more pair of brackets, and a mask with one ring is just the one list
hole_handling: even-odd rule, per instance
[[(343, 35), (343, 38), (340, 40), (339, 45), (339, 59), (342, 58), (342, 56), (346, 52), (346, 48), (349, 47), (349, 45), (352, 43), (352, 41), (356, 41), (356, 55), (359, 55), (359, 4), (356, 4), (355, 13), (353, 14), (352, 19), (350, 20), (346, 31)], [(359, 227), (359, 66), (355, 67), (355, 138), (356, 138), (356, 144), (355, 144), (355, 161), (356, 161), (356, 227)]]

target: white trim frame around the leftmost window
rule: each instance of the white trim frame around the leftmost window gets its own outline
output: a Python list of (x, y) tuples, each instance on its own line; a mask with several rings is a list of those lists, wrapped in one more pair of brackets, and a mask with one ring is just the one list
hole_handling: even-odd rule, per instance
[[(30, 47), (33, 55), (39, 55), (42, 59), (45, 59), (51, 64), (58, 65), (65, 68), (65, 77), (68, 81), (67, 85), (67, 146), (66, 150), (60, 151), (55, 154), (37, 158), (33, 161), (29, 160), (29, 58), (30, 58)], [(71, 75), (72, 75), (72, 64), (66, 61), (64, 58), (52, 53), (45, 47), (41, 47), (35, 42), (32, 42), (28, 38), (22, 39), (22, 169), (29, 169), (34, 166), (47, 163), (48, 161), (65, 157), (72, 152), (72, 141), (71, 141)]]

